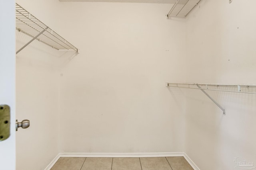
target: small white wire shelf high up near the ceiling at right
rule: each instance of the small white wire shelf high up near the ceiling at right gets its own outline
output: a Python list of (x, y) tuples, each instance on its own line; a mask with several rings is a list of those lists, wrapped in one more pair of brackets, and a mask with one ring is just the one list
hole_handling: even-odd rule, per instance
[(177, 0), (176, 3), (172, 6), (170, 12), (167, 14), (167, 17), (185, 17), (198, 4), (199, 1), (200, 0)]

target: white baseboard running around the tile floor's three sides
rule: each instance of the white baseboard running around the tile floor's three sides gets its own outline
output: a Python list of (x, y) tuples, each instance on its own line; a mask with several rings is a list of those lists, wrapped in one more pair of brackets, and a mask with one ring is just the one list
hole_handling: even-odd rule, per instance
[(156, 152), (156, 153), (59, 153), (44, 169), (50, 170), (60, 157), (110, 157), (110, 158), (138, 158), (138, 157), (174, 157), (184, 156), (194, 170), (200, 170), (184, 152)]

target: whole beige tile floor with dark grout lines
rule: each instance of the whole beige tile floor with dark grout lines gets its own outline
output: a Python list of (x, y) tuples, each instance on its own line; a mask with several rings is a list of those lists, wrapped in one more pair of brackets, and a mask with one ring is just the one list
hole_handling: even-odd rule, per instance
[(62, 157), (51, 170), (193, 170), (184, 157), (69, 158)]

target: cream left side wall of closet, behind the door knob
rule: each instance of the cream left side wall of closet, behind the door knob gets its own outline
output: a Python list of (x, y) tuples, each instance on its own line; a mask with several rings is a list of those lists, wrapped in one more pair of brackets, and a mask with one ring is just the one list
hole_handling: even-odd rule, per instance
[[(48, 6), (54, 5), (53, 2), (17, 3), (47, 25), (52, 25), (54, 15)], [(16, 50), (30, 39), (16, 31)], [(61, 55), (63, 53), (37, 40), (16, 55), (16, 119), (30, 120), (28, 129), (19, 128), (16, 132), (17, 170), (43, 170), (59, 153), (56, 70)]]

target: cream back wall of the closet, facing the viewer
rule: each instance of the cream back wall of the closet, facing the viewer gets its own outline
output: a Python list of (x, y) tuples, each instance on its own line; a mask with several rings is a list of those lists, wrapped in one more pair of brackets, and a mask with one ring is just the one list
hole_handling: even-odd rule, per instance
[(80, 48), (60, 74), (61, 152), (183, 152), (184, 95), (165, 82), (185, 80), (185, 23), (170, 4), (61, 6)]

